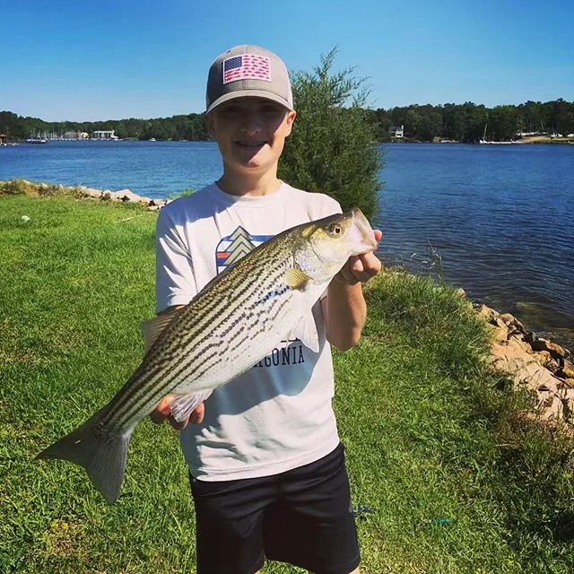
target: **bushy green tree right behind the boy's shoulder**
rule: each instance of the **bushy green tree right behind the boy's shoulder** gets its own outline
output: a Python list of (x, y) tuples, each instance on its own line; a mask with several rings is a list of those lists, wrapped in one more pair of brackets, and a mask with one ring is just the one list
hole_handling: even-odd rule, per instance
[(352, 68), (332, 72), (336, 48), (321, 56), (312, 73), (292, 74), (298, 117), (285, 142), (281, 178), (326, 193), (344, 211), (360, 207), (372, 219), (378, 210), (382, 168), (378, 126), (363, 109), (368, 91)]

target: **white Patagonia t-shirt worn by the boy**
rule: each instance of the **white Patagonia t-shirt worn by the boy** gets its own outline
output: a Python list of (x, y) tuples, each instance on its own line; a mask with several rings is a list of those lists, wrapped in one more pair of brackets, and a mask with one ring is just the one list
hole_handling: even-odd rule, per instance
[[(231, 196), (212, 184), (166, 205), (156, 230), (156, 310), (187, 304), (226, 265), (277, 233), (340, 212), (331, 197), (285, 183), (257, 197)], [(180, 432), (193, 476), (223, 481), (278, 474), (337, 446), (333, 363), (320, 302), (313, 314), (318, 353), (299, 340), (283, 341), (216, 388), (205, 401), (204, 421)]]

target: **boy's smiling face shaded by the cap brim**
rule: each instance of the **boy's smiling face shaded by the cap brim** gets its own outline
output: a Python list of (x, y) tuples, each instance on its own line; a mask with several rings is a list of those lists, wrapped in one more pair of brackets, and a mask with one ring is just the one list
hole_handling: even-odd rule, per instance
[(276, 168), (295, 111), (265, 98), (236, 98), (207, 115), (209, 132), (228, 170), (265, 172)]

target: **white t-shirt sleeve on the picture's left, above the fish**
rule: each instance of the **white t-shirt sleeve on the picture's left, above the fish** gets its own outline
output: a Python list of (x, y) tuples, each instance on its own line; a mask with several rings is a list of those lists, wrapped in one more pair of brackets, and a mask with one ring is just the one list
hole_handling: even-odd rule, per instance
[(164, 208), (155, 230), (155, 310), (187, 305), (197, 292), (193, 263), (183, 229)]

